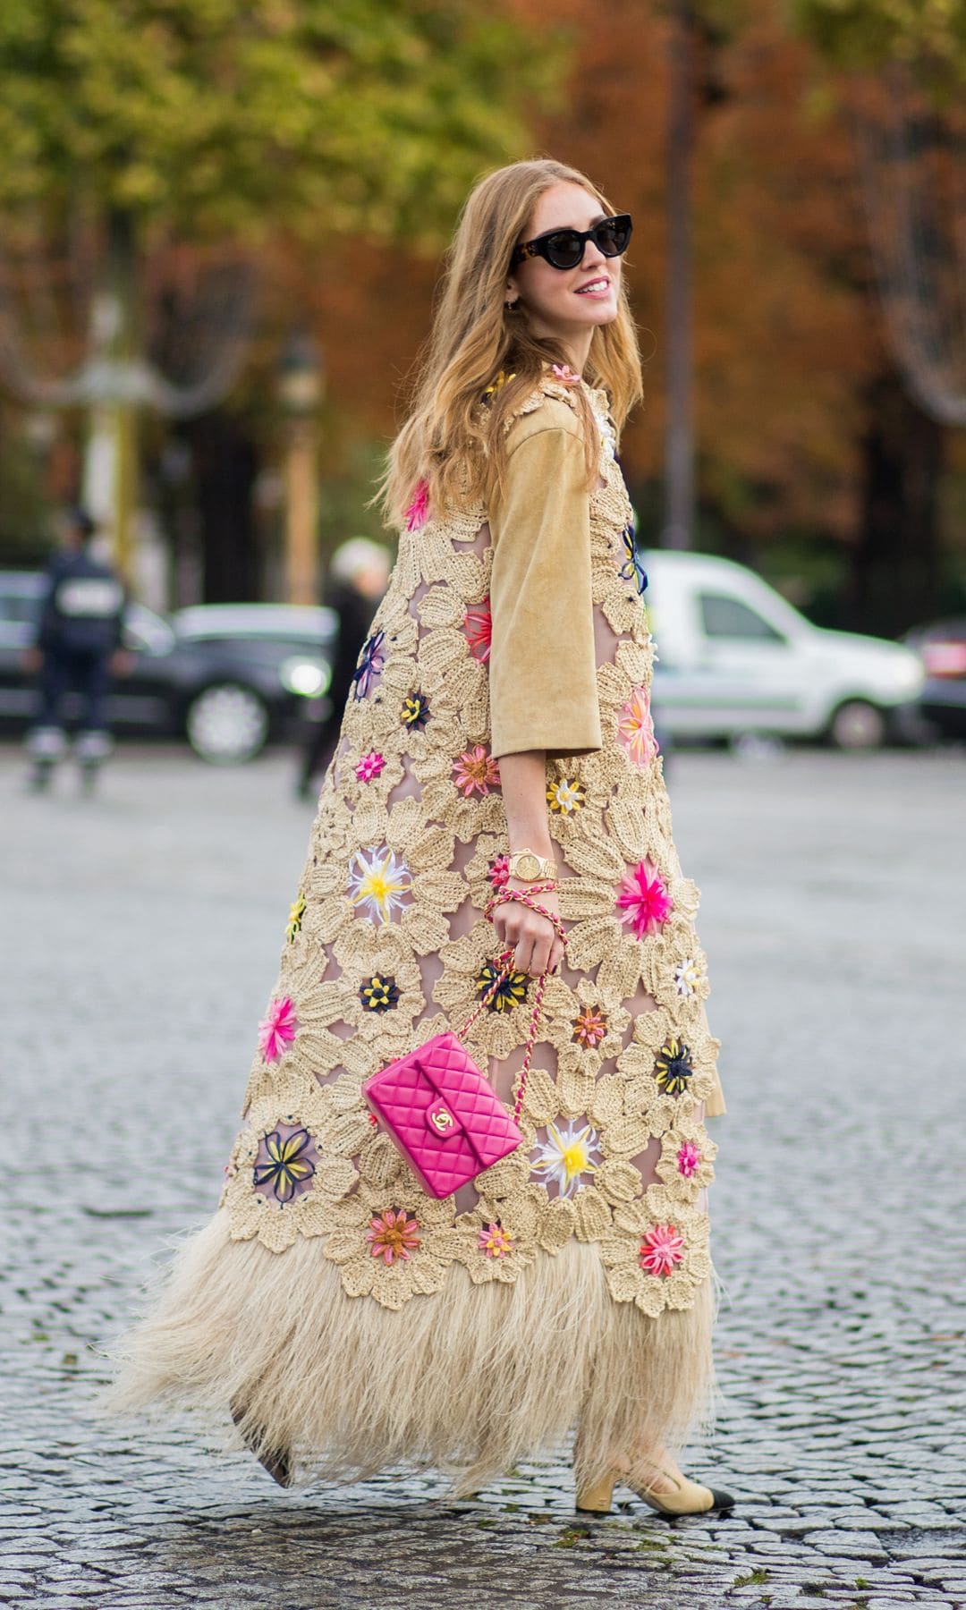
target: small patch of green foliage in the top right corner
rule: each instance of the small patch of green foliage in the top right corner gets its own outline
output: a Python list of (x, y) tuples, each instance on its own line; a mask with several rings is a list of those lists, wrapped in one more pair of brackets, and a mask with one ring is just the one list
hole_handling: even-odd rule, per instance
[(902, 61), (939, 98), (966, 84), (966, 0), (791, 0), (791, 10), (837, 66)]

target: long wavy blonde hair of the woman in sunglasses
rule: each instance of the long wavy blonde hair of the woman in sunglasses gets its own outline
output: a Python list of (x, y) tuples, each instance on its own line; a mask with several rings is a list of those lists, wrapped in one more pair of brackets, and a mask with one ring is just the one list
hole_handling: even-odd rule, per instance
[[(427, 483), (430, 509), (459, 507), (477, 497), (489, 501), (506, 472), (504, 420), (533, 390), (546, 364), (567, 362), (559, 341), (531, 333), (523, 309), (504, 306), (514, 248), (526, 238), (538, 198), (560, 182), (581, 185), (607, 216), (617, 211), (586, 174), (546, 156), (499, 167), (470, 192), (415, 370), (411, 412), (380, 483), (386, 525), (404, 525), (420, 481)], [(514, 378), (497, 385), (489, 406), (481, 406), (501, 372)], [(617, 319), (594, 328), (583, 377), (609, 393), (620, 431), (642, 393), (641, 354), (623, 283)], [(596, 430), (583, 391), (575, 398), (584, 422), (591, 486)]]

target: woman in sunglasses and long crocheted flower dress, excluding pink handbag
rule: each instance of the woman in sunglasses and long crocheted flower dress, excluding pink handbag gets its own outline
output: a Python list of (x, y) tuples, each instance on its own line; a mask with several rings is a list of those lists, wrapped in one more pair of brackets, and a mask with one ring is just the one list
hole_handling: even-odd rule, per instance
[[(615, 462), (630, 227), (543, 159), (465, 206), (222, 1203), (127, 1341), (118, 1402), (230, 1409), (285, 1484), (407, 1460), (467, 1492), (576, 1426), (580, 1509), (617, 1478), (731, 1502), (675, 1463), (723, 1103)], [(546, 969), (523, 1141), (435, 1199), (361, 1085), (486, 1001), (469, 1046), (509, 1103)]]

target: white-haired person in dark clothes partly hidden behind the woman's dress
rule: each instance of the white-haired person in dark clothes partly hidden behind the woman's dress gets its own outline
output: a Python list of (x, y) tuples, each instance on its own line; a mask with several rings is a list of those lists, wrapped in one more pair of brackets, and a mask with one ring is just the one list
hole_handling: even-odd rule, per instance
[(372, 623), (375, 609), (390, 580), (390, 554), (382, 543), (365, 536), (353, 536), (336, 547), (328, 567), (328, 580), (322, 602), (338, 617), (336, 636), (332, 646), (332, 681), (328, 684), (328, 712), (311, 728), (303, 752), (298, 779), (298, 797), (312, 797), (312, 779), (325, 771), (338, 734), (341, 731), (346, 699), (359, 678), (359, 650)]

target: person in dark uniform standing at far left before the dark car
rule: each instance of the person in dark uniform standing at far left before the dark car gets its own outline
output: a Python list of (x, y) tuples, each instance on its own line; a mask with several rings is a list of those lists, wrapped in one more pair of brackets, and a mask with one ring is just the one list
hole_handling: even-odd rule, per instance
[(48, 787), (53, 768), (68, 752), (63, 707), (68, 694), (80, 700), (74, 753), (90, 787), (111, 750), (105, 704), (111, 675), (124, 670), (121, 646), (126, 592), (109, 565), (90, 554), (97, 526), (84, 509), (64, 520), (64, 546), (47, 567), (47, 586), (37, 639), (27, 650), (27, 670), (40, 678), (40, 712), (27, 736), (34, 762), (32, 787)]

